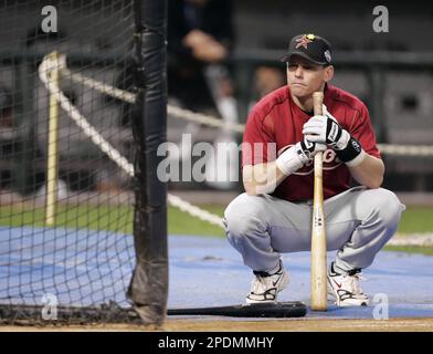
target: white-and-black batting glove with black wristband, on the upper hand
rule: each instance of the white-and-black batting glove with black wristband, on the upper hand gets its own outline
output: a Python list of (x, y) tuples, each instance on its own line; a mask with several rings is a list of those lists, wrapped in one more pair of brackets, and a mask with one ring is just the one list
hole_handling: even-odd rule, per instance
[(361, 144), (346, 129), (324, 105), (324, 115), (315, 115), (304, 124), (303, 134), (311, 143), (327, 144), (334, 148), (338, 158), (348, 166), (359, 165), (366, 153)]

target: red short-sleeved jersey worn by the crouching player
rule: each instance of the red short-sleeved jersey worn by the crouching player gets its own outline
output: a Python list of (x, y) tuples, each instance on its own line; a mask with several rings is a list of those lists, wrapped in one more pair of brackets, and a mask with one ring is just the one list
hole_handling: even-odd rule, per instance
[[(380, 158), (366, 105), (356, 96), (331, 85), (326, 85), (324, 94), (324, 104), (340, 126), (360, 142), (366, 153)], [(311, 114), (294, 103), (288, 86), (264, 96), (253, 107), (246, 122), (242, 166), (275, 160), (286, 148), (304, 138), (303, 126), (310, 117)], [(328, 148), (324, 153), (324, 198), (347, 190), (350, 180), (347, 166)], [(314, 165), (310, 163), (284, 179), (273, 196), (289, 201), (308, 200), (313, 199), (313, 186)]]

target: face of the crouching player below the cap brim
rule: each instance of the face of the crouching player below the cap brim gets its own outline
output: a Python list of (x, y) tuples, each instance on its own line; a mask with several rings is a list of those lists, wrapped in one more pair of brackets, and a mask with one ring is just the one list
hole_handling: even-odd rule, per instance
[(300, 58), (293, 56), (287, 63), (287, 85), (296, 97), (311, 96), (315, 91), (321, 91), (325, 82), (330, 80), (331, 66), (323, 66)]

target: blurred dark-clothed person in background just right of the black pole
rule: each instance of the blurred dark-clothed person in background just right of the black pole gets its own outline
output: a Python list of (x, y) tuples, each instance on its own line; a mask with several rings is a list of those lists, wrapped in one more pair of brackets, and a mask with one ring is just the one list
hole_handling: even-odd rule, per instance
[[(221, 116), (225, 123), (237, 123), (237, 106), (226, 64), (234, 44), (232, 1), (170, 0), (167, 40), (169, 100), (193, 112)], [(199, 128), (199, 124), (189, 123), (182, 132), (194, 136)], [(230, 180), (230, 176), (237, 173), (233, 163), (237, 152), (231, 148), (219, 153), (219, 146), (232, 142), (235, 136), (230, 131), (215, 135), (216, 156), (208, 156), (204, 178), (213, 188), (231, 189), (237, 185)], [(189, 147), (181, 146), (179, 154), (173, 152), (170, 156), (180, 160), (191, 158)]]

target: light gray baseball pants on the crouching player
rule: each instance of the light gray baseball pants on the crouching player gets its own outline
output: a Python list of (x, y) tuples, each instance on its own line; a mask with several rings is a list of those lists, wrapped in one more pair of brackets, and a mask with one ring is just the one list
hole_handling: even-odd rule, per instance
[[(277, 267), (281, 253), (310, 250), (313, 201), (242, 194), (224, 212), (230, 243), (256, 271)], [(327, 250), (342, 271), (367, 268), (397, 230), (405, 209), (390, 190), (355, 187), (325, 200)]]

